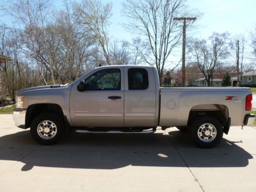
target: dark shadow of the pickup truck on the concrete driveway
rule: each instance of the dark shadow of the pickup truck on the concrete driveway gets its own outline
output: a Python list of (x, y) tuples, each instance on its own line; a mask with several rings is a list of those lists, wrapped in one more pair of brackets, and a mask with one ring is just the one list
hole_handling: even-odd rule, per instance
[[(242, 142), (242, 141), (238, 141)], [(0, 137), (0, 160), (33, 166), (115, 169), (125, 166), (244, 167), (253, 157), (237, 141), (223, 139), (215, 148), (197, 148), (188, 134), (76, 134), (59, 144), (35, 143), (29, 131)]]

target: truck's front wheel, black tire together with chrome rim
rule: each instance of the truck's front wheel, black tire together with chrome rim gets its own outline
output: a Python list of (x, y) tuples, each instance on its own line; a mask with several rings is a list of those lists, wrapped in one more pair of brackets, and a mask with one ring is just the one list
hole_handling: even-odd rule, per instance
[[(40, 124), (41, 126), (39, 126)], [(32, 120), (30, 133), (37, 143), (52, 145), (60, 140), (64, 129), (63, 120), (59, 116), (42, 113)]]

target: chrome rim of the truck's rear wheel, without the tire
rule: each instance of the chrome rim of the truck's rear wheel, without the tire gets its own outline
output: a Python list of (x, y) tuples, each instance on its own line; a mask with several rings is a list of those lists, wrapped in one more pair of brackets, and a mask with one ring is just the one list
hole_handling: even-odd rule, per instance
[(204, 123), (199, 127), (197, 135), (201, 141), (210, 142), (215, 139), (217, 130), (214, 125), (210, 123)]

